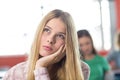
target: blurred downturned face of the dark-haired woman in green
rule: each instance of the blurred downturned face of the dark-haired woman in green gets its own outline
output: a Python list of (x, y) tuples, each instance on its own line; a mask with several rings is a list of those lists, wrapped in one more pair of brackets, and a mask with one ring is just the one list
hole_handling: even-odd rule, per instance
[(92, 47), (91, 39), (89, 37), (83, 36), (79, 38), (78, 41), (79, 41), (80, 50), (84, 55), (92, 53), (93, 47)]

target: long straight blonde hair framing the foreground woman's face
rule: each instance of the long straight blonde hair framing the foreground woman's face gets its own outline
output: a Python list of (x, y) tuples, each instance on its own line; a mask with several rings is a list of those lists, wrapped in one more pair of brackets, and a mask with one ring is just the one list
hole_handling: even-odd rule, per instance
[(66, 25), (66, 56), (58, 63), (53, 64), (48, 68), (51, 80), (84, 80), (81, 60), (79, 54), (79, 46), (77, 40), (77, 33), (71, 15), (62, 10), (53, 10), (49, 12), (41, 21), (36, 31), (35, 39), (31, 47), (31, 53), (28, 58), (28, 80), (35, 80), (34, 69), (36, 61), (40, 58), (39, 45), (40, 38), (44, 26), (53, 18), (60, 18)]

